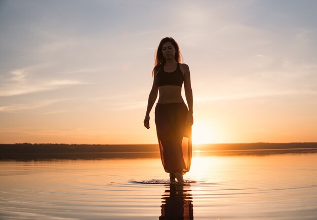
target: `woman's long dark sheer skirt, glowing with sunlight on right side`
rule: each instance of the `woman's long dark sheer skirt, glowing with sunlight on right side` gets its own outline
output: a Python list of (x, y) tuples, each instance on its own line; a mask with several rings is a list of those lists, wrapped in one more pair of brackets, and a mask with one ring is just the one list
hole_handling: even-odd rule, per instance
[(165, 172), (185, 174), (191, 163), (191, 125), (184, 102), (156, 103), (155, 125)]

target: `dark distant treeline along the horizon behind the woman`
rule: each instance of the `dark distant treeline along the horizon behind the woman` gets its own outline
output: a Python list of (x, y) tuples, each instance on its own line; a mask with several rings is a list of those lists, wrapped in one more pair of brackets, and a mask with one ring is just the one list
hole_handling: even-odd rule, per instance
[[(195, 144), (193, 150), (259, 150), (316, 148), (316, 142), (298, 143), (236, 143), (236, 144)], [(157, 144), (0, 144), (3, 153), (99, 153), (99, 152), (153, 152), (159, 151)]]

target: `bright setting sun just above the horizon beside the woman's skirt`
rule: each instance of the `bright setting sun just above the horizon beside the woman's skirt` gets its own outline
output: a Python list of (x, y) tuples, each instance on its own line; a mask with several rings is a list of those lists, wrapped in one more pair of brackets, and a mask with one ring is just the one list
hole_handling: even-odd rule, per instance
[(208, 122), (194, 122), (191, 140), (194, 144), (208, 144), (215, 141), (214, 132)]

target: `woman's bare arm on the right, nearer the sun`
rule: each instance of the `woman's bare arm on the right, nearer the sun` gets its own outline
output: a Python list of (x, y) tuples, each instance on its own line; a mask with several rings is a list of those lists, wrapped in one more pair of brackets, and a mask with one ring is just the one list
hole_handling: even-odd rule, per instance
[(185, 73), (184, 73), (184, 89), (185, 89), (185, 96), (188, 104), (188, 116), (187, 116), (187, 123), (190, 125), (193, 124), (193, 109), (192, 109), (192, 89), (191, 89), (191, 83), (190, 83), (190, 71), (188, 65), (185, 64)]

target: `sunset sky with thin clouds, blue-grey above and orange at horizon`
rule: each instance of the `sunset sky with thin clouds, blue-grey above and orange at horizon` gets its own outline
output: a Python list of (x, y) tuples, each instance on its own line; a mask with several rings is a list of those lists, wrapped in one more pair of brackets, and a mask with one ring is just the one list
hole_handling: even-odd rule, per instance
[[(0, 1), (0, 143), (156, 144), (155, 49), (190, 68), (194, 143), (317, 141), (317, 1)], [(184, 92), (183, 92), (183, 97)]]

